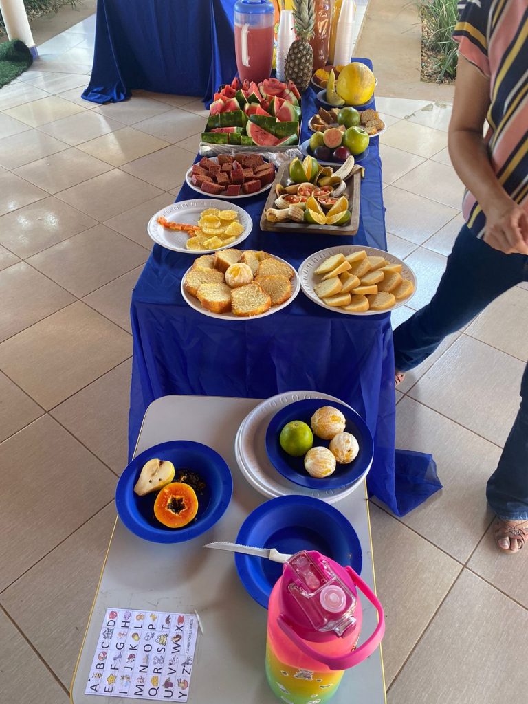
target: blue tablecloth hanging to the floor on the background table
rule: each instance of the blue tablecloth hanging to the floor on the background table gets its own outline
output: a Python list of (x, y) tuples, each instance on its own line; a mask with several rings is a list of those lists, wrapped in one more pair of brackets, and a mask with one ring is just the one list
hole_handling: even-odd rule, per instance
[(234, 0), (98, 0), (94, 65), (82, 97), (132, 89), (212, 99), (237, 73)]

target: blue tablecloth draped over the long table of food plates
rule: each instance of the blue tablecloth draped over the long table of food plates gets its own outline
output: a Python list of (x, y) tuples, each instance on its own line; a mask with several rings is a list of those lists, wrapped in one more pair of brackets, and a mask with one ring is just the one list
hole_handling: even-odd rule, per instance
[[(317, 110), (315, 92), (303, 96), (303, 139)], [(361, 184), (355, 237), (278, 234), (258, 225), (264, 196), (238, 201), (251, 214), (245, 249), (263, 249), (295, 268), (310, 254), (338, 244), (386, 249), (378, 139), (370, 141)], [(178, 200), (197, 197), (187, 184)], [(228, 201), (226, 201), (227, 203)], [(287, 308), (266, 318), (225, 321), (201, 315), (182, 298), (180, 284), (193, 256), (157, 244), (132, 294), (134, 363), (130, 456), (146, 408), (167, 394), (268, 398), (313, 389), (358, 410), (375, 439), (367, 477), (371, 494), (404, 515), (441, 488), (431, 455), (396, 451), (394, 353), (390, 313), (360, 318), (317, 306), (301, 291)], [(177, 420), (175, 419), (175, 422)]]

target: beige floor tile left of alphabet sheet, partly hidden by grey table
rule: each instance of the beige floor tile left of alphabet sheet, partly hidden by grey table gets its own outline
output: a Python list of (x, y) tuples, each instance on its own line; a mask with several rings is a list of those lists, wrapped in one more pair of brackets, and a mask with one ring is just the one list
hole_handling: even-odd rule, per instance
[(0, 596), (68, 689), (115, 516), (112, 502)]

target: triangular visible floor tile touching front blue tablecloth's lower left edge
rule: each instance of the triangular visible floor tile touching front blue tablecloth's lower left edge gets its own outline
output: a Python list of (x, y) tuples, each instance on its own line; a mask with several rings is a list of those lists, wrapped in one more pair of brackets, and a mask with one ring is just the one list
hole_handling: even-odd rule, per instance
[(127, 360), (51, 412), (118, 476), (127, 465), (131, 374)]

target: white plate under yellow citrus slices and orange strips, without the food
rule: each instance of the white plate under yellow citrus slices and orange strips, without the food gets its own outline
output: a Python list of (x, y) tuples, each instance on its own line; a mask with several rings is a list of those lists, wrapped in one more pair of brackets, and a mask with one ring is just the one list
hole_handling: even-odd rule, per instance
[[(226, 244), (223, 247), (217, 247), (216, 249), (187, 249), (185, 243), (189, 239), (189, 236), (185, 232), (179, 232), (178, 230), (167, 230), (166, 227), (160, 225), (157, 222), (158, 218), (163, 216), (166, 220), (170, 222), (185, 222), (188, 225), (196, 225), (200, 218), (202, 210), (206, 208), (220, 208), (220, 210), (236, 210), (239, 216), (239, 222), (244, 227), (244, 232), (237, 237), (231, 244)], [(246, 213), (244, 208), (240, 206), (231, 205), (225, 203), (225, 201), (217, 201), (212, 198), (204, 198), (199, 201), (180, 201), (179, 203), (172, 203), (172, 205), (163, 208), (159, 213), (153, 215), (149, 220), (149, 225), (146, 226), (146, 230), (149, 233), (149, 237), (157, 244), (161, 244), (162, 247), (166, 249), (172, 249), (175, 252), (184, 252), (185, 254), (206, 254), (210, 252), (215, 252), (220, 249), (227, 249), (227, 247), (235, 247), (240, 242), (244, 241), (248, 237), (251, 230), (253, 230), (253, 220)]]

